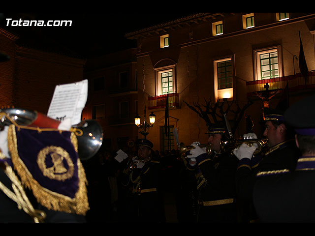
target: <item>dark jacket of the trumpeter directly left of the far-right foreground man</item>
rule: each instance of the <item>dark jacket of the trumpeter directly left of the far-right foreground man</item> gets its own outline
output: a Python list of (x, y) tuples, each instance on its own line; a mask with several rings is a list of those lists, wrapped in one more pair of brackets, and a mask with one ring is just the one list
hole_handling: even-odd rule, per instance
[[(246, 204), (244, 221), (257, 220), (252, 206), (252, 191), (256, 181), (256, 175), (269, 171), (292, 171), (295, 169), (299, 150), (295, 141), (285, 141), (270, 148), (265, 155), (254, 157), (252, 160), (243, 158), (238, 163), (236, 173), (236, 188), (238, 198)], [(258, 159), (258, 160), (257, 160)]]

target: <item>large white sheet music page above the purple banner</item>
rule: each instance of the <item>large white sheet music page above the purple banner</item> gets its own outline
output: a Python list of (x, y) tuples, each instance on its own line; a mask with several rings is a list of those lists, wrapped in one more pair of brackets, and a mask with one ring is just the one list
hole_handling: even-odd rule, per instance
[(82, 110), (88, 98), (88, 80), (57, 85), (47, 116), (62, 120), (71, 119), (71, 125), (81, 122)]

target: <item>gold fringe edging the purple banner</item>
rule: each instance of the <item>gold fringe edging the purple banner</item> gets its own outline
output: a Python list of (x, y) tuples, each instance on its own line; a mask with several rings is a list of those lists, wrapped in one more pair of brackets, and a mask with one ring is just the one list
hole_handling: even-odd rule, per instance
[[(77, 139), (73, 133), (71, 133), (71, 142), (77, 151)], [(32, 193), (35, 196), (37, 202), (48, 209), (63, 211), (67, 213), (76, 213), (80, 215), (85, 215), (86, 212), (90, 209), (88, 196), (87, 196), (87, 178), (83, 168), (83, 165), (78, 158), (78, 178), (79, 186), (78, 191), (75, 194), (75, 197), (72, 199), (63, 194), (56, 193), (47, 188), (42, 187), (33, 177), (24, 162), (21, 160), (18, 147), (15, 126), (12, 124), (9, 126), (8, 130), (8, 148), (11, 153), (12, 163), (14, 169), (17, 171), (21, 177), (23, 185), (32, 189)]]

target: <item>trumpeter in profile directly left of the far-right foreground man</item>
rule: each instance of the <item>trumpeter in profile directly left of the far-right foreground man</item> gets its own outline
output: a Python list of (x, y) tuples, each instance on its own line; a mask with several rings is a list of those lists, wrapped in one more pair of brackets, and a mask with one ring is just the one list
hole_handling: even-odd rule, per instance
[[(240, 200), (247, 202), (244, 221), (257, 222), (255, 210), (252, 205), (252, 191), (256, 175), (261, 172), (286, 172), (294, 170), (299, 156), (299, 150), (291, 139), (291, 127), (284, 121), (284, 112), (264, 108), (265, 131), (263, 135), (268, 139), (267, 150), (253, 156), (255, 146), (242, 144), (234, 149), (233, 153), (240, 160), (236, 173), (236, 188)], [(257, 138), (254, 133), (246, 134)]]

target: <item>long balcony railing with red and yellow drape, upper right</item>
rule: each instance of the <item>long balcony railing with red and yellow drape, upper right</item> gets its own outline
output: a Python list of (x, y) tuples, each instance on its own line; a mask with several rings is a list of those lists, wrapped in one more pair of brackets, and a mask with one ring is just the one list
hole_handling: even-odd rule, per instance
[[(305, 83), (305, 79), (301, 73), (289, 76), (283, 76), (273, 79), (254, 80), (247, 81), (247, 96), (256, 96), (255, 91), (263, 91), (268, 88), (269, 90), (284, 89), (288, 83), (290, 92), (294, 92), (300, 89), (314, 89), (315, 88), (315, 71), (308, 73), (308, 78)], [(267, 86), (266, 86), (267, 85)]]

